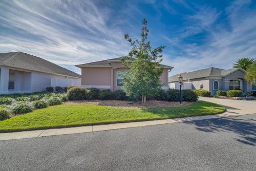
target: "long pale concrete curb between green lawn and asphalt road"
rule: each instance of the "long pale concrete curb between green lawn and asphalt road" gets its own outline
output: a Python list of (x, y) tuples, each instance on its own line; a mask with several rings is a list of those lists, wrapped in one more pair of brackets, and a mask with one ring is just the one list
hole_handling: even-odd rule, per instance
[[(130, 127), (139, 127), (139, 126), (172, 124), (172, 123), (178, 123), (178, 122), (214, 119), (214, 118), (222, 118), (222, 117), (236, 117), (236, 116), (248, 115), (248, 114), (249, 113), (239, 114), (239, 113), (233, 113), (233, 112), (224, 112), (222, 114), (217, 114), (217, 115), (205, 115), (205, 116), (185, 117), (185, 118), (176, 118), (176, 119), (163, 119), (163, 120), (152, 120), (152, 121), (142, 121), (142, 122), (66, 127), (61, 129), (23, 131), (23, 132), (14, 132), (14, 133), (0, 133), (0, 141), (12, 140), (12, 139), (46, 137), (46, 136), (54, 136), (54, 135), (89, 133), (89, 132), (98, 132), (98, 131), (106, 131), (106, 130), (117, 130), (117, 129), (126, 129)], [(253, 114), (253, 113), (250, 113), (250, 114)]]

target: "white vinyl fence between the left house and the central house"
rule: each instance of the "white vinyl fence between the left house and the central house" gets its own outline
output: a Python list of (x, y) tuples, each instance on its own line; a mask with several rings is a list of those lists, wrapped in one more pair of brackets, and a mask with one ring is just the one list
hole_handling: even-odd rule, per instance
[(81, 79), (60, 79), (52, 78), (51, 87), (69, 87), (69, 86), (81, 86)]

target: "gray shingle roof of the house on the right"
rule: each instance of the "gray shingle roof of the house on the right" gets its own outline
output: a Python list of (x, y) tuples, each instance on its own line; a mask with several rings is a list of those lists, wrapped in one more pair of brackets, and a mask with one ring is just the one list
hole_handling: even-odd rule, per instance
[(220, 76), (220, 77), (222, 77), (222, 76), (226, 76), (226, 75), (228, 75), (228, 74), (230, 74), (234, 71), (237, 71), (237, 70), (243, 70), (243, 69), (241, 69), (241, 68), (232, 68), (232, 69), (229, 69), (229, 70), (224, 70), (224, 69), (220, 69), (220, 68), (210, 67), (210, 68), (205, 68), (205, 69), (202, 69), (202, 70), (197, 70), (197, 71), (188, 72), (188, 73), (185, 72), (185, 73), (180, 73), (180, 74), (170, 76), (169, 77), (169, 82), (178, 81), (178, 76), (179, 75), (181, 75), (183, 77), (183, 80), (203, 78), (203, 77), (209, 77), (209, 76)]

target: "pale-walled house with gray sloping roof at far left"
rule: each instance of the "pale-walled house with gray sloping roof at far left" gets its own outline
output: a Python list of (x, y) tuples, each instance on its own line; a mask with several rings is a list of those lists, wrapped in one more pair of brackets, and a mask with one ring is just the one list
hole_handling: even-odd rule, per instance
[(0, 69), (0, 94), (41, 92), (55, 79), (81, 79), (77, 73), (23, 52), (0, 53)]

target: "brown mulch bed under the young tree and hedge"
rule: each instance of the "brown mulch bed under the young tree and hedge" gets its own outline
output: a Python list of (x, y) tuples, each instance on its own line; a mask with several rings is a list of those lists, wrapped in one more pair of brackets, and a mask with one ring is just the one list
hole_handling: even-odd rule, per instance
[(125, 101), (125, 100), (79, 100), (79, 101), (67, 101), (63, 104), (91, 104), (91, 105), (106, 105), (115, 107), (134, 107), (134, 108), (159, 108), (159, 107), (173, 107), (173, 106), (186, 106), (193, 102), (183, 101), (180, 104), (179, 101), (160, 101), (160, 100), (148, 100), (146, 105), (142, 105), (141, 101)]

